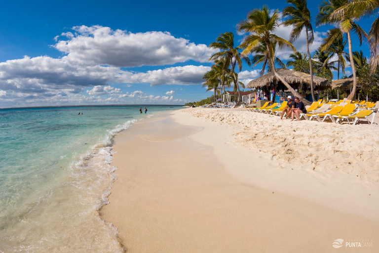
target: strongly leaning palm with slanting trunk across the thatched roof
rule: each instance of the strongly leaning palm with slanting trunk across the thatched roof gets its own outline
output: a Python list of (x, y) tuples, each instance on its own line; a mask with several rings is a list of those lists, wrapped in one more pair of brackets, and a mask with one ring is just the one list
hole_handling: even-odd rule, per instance
[(290, 84), (288, 84), (277, 72), (274, 63), (273, 45), (279, 47), (289, 47), (296, 52), (295, 47), (288, 41), (275, 35), (275, 31), (279, 26), (278, 10), (275, 10), (272, 15), (269, 14), (270, 10), (267, 6), (263, 6), (262, 9), (254, 9), (247, 15), (247, 20), (241, 21), (237, 28), (239, 31), (249, 33), (243, 38), (243, 42), (240, 47), (244, 48), (241, 52), (242, 55), (248, 55), (257, 50), (257, 48), (265, 45), (268, 55), (268, 64), (275, 77), (279, 79), (289, 91), (295, 96), (299, 97), (304, 104), (310, 102), (303, 98), (301, 94), (295, 91)]

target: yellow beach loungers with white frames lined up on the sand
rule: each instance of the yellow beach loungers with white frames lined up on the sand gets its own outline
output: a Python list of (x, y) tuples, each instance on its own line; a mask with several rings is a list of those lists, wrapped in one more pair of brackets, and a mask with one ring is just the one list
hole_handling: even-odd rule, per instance
[[(281, 104), (273, 103), (270, 106), (268, 106), (268, 102), (266, 102), (262, 107), (247, 109), (252, 112), (280, 116), (286, 106), (287, 101), (284, 101)], [(338, 102), (323, 103), (322, 100), (319, 100), (305, 108), (307, 112), (301, 113), (298, 120), (304, 118), (305, 120), (311, 121), (316, 119), (318, 122), (324, 122), (330, 119), (336, 124), (346, 120), (348, 124), (356, 125), (359, 120), (365, 119), (369, 124), (373, 124), (375, 112), (379, 112), (379, 101), (373, 103), (366, 101), (340, 100)], [(371, 118), (371, 121), (369, 118)]]

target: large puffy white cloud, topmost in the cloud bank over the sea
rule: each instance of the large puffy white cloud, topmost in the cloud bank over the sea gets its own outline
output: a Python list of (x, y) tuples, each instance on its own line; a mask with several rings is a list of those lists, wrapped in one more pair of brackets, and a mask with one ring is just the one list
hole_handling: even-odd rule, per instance
[(139, 67), (171, 65), (194, 60), (207, 62), (217, 52), (205, 44), (175, 38), (168, 32), (131, 33), (103, 26), (76, 26), (63, 33), (53, 47), (67, 54), (71, 61), (82, 65)]

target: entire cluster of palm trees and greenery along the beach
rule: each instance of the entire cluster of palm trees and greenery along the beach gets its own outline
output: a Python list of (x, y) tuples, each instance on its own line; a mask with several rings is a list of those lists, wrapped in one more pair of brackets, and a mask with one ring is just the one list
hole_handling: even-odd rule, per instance
[[(219, 49), (209, 60), (214, 62), (212, 70), (207, 72), (203, 79), (203, 86), (214, 92), (213, 96), (203, 99), (199, 102), (189, 103), (190, 105), (202, 105), (216, 102), (219, 98), (224, 99), (225, 86), (230, 87), (233, 83), (234, 92), (238, 93), (237, 102), (241, 101), (240, 86), (244, 84), (238, 81), (237, 71), (241, 71), (242, 61), (245, 60), (253, 68), (262, 64), (260, 75), (265, 71), (273, 72), (286, 88), (295, 96), (299, 97), (304, 103), (303, 96), (295, 91), (286, 81), (278, 75), (276, 68), (293, 68), (296, 71), (311, 75), (310, 94), (313, 100), (314, 84), (313, 76), (333, 80), (332, 71), (337, 71), (337, 79), (340, 79), (340, 73), (345, 74), (347, 62), (352, 69), (353, 87), (348, 95), (348, 99), (353, 99), (357, 90), (357, 84), (361, 88), (360, 95), (369, 92), (370, 99), (379, 98), (378, 87), (378, 64), (379, 64), (379, 17), (376, 17), (369, 33), (367, 34), (358, 25), (362, 18), (378, 15), (378, 0), (324, 0), (320, 2), (319, 12), (315, 18), (315, 25), (332, 25), (326, 38), (313, 57), (310, 55), (309, 45), (313, 43), (314, 35), (312, 28), (312, 19), (310, 11), (307, 8), (307, 0), (286, 0), (288, 6), (283, 9), (283, 18), (281, 23), (279, 10), (270, 11), (268, 6), (256, 8), (247, 14), (247, 18), (237, 24), (237, 31), (245, 33), (240, 45), (234, 45), (234, 34), (226, 32), (216, 38), (209, 47)], [(279, 26), (291, 26), (289, 41), (276, 35)], [(305, 30), (307, 52), (301, 53), (292, 45)], [(371, 56), (368, 61), (363, 52), (353, 52), (351, 36), (355, 34), (360, 43), (366, 42), (370, 48)], [(345, 46), (348, 45), (348, 53), (345, 52)], [(275, 56), (275, 49), (287, 47), (293, 51), (290, 60), (284, 64)], [(337, 60), (332, 61), (334, 58)], [(357, 78), (358, 77), (358, 78)], [(309, 92), (309, 91), (305, 91)], [(327, 91), (323, 91), (322, 94)], [(336, 93), (336, 94), (335, 94)], [(329, 91), (333, 97), (337, 92)], [(340, 95), (344, 95), (341, 92)], [(225, 102), (225, 101), (223, 101)]]

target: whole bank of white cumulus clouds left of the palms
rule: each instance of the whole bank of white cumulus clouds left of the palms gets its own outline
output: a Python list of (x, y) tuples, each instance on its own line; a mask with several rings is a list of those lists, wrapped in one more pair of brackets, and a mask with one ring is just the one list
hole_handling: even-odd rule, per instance
[[(59, 40), (62, 37), (55, 38), (57, 43), (54, 47), (66, 53), (61, 58), (25, 56), (0, 63), (1, 107), (12, 101), (12, 106), (20, 105), (21, 101), (29, 101), (33, 105), (38, 105), (36, 101), (44, 101), (54, 105), (54, 98), (62, 103), (76, 99), (104, 103), (105, 100), (90, 97), (110, 95), (114, 98), (108, 101), (115, 101), (143, 95), (133, 92), (121, 94), (122, 90), (112, 84), (124, 83), (127, 87), (132, 84), (201, 84), (202, 76), (210, 67), (188, 65), (140, 73), (120, 67), (164, 65), (187, 60), (201, 62), (207, 61), (214, 53), (204, 44), (194, 44), (164, 32), (133, 34), (101, 26), (81, 26), (73, 30), (61, 35), (67, 38), (66, 41)], [(86, 87), (91, 87), (85, 93), (90, 97), (85, 96), (87, 98), (84, 99), (79, 93)]]

